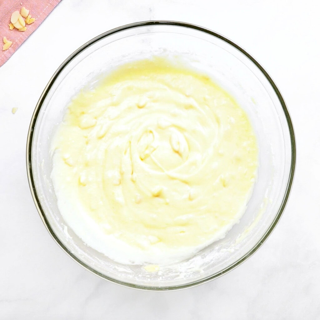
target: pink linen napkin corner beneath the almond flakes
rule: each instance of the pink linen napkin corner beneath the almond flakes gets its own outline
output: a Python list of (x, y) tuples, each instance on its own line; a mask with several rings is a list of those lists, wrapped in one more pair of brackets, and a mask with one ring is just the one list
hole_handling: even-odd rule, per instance
[[(20, 45), (38, 28), (41, 22), (48, 16), (53, 8), (61, 0), (0, 0), (0, 67), (6, 62), (12, 54), (20, 47)], [(19, 31), (16, 28), (9, 29), (12, 12), (26, 7), (30, 10), (32, 18), (36, 21), (32, 24), (26, 24), (26, 31)], [(8, 50), (2, 51), (3, 37), (12, 41), (12, 45)]]

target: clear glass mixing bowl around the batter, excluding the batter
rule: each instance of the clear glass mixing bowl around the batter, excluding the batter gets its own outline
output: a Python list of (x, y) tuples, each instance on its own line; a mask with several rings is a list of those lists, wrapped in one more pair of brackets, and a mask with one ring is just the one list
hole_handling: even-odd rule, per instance
[[(224, 239), (194, 257), (159, 271), (123, 265), (88, 247), (64, 222), (52, 187), (50, 142), (66, 106), (82, 88), (132, 60), (178, 56), (232, 94), (247, 112), (259, 144), (258, 178), (244, 216)], [(116, 28), (72, 53), (44, 89), (31, 119), (27, 170), (31, 193), (44, 225), (74, 260), (117, 284), (172, 290), (200, 284), (232, 270), (250, 257), (276, 226), (288, 200), (295, 168), (292, 122), (275, 83), (261, 65), (227, 38), (199, 26), (147, 21)]]

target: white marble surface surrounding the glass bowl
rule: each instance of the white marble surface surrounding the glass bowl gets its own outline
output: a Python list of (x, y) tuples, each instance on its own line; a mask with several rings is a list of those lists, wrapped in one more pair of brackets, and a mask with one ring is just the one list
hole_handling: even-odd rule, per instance
[[(71, 260), (38, 216), (25, 164), (31, 115), (60, 63), (110, 28), (150, 19), (244, 47), (279, 86), (297, 137), (291, 197), (271, 237), (229, 274), (176, 292), (124, 288)], [(319, 29), (314, 0), (62, 1), (0, 68), (0, 319), (320, 319)]]

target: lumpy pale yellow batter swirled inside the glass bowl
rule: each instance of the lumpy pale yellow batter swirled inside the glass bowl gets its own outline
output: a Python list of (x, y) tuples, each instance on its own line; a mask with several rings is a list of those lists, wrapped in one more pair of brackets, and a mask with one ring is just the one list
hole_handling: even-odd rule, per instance
[(52, 148), (64, 219), (123, 263), (170, 263), (225, 236), (258, 164), (235, 100), (208, 76), (160, 58), (126, 64), (79, 93)]

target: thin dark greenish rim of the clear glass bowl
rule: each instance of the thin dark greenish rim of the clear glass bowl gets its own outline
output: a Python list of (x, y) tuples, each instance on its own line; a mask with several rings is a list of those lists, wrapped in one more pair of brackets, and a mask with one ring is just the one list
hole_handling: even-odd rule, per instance
[[(244, 54), (244, 56), (246, 56), (249, 60), (251, 60), (255, 64), (255, 66), (260, 69), (262, 74), (267, 78), (268, 82), (271, 84), (273, 90), (275, 91), (275, 93), (277, 95), (277, 98), (279, 99), (279, 101), (281, 103), (281, 106), (283, 108), (284, 115), (286, 117), (286, 121), (287, 121), (289, 132), (290, 132), (290, 140), (291, 140), (291, 156), (292, 156), (291, 157), (291, 167), (290, 167), (290, 174), (289, 174), (289, 179), (288, 179), (288, 182), (287, 182), (284, 198), (282, 200), (282, 203), (281, 203), (281, 205), (279, 207), (279, 210), (278, 210), (278, 212), (276, 214), (275, 219), (272, 221), (272, 223), (270, 224), (269, 228), (264, 233), (264, 235), (260, 238), (260, 240), (255, 244), (255, 246), (249, 252), (244, 254), (240, 259), (238, 259), (236, 262), (234, 262), (230, 266), (224, 268), (223, 270), (221, 270), (221, 271), (219, 271), (217, 273), (214, 273), (211, 276), (207, 276), (207, 277), (205, 277), (203, 279), (200, 279), (200, 280), (192, 281), (192, 282), (189, 282), (187, 284), (173, 285), (173, 286), (145, 286), (145, 285), (132, 284), (132, 283), (129, 283), (129, 282), (120, 281), (120, 280), (114, 279), (112, 277), (109, 277), (109, 276), (106, 276), (106, 275), (100, 273), (99, 271), (95, 270), (94, 268), (90, 267), (89, 265), (84, 263), (82, 260), (80, 260), (75, 254), (73, 254), (71, 251), (69, 251), (69, 249), (65, 246), (65, 244), (62, 243), (62, 241), (58, 238), (58, 236), (56, 236), (54, 230), (51, 228), (50, 223), (46, 218), (45, 212), (44, 212), (44, 210), (42, 208), (42, 205), (41, 205), (41, 202), (39, 200), (39, 196), (38, 196), (38, 193), (37, 193), (37, 190), (36, 190), (36, 186), (35, 186), (35, 182), (34, 182), (34, 179), (33, 179), (33, 171), (32, 171), (32, 144), (33, 144), (34, 129), (35, 129), (37, 117), (39, 115), (39, 111), (40, 111), (40, 109), (41, 109), (41, 107), (43, 105), (43, 102), (44, 102), (48, 92), (50, 91), (50, 88), (52, 87), (53, 83), (55, 82), (55, 80), (57, 79), (57, 77), (59, 76), (61, 71), (79, 53), (83, 52), (87, 47), (89, 47), (90, 45), (100, 41), (101, 39), (103, 39), (105, 37), (108, 37), (110, 35), (113, 35), (115, 33), (118, 33), (118, 32), (121, 32), (121, 31), (124, 31), (124, 30), (127, 30), (127, 29), (146, 27), (146, 26), (155, 26), (155, 25), (160, 25), (160, 26), (178, 26), (178, 27), (184, 27), (184, 28), (189, 28), (189, 29), (194, 29), (194, 30), (197, 30), (197, 31), (201, 31), (201, 32), (204, 32), (204, 33), (209, 34), (211, 36), (214, 36), (216, 38), (219, 38), (220, 40), (223, 40), (224, 42), (226, 42), (227, 44), (230, 44), (231, 46), (236, 48), (238, 51), (240, 51), (242, 54)], [(104, 33), (100, 34), (99, 36), (96, 36), (95, 38), (93, 38), (93, 39), (89, 40), (88, 42), (86, 42), (85, 44), (83, 44), (75, 52), (73, 52), (66, 60), (64, 60), (62, 62), (62, 64), (55, 71), (55, 73), (53, 74), (53, 76), (49, 80), (48, 84), (46, 85), (44, 91), (42, 92), (42, 94), (41, 94), (41, 96), (40, 96), (40, 98), (39, 98), (39, 100), (38, 100), (38, 102), (36, 104), (35, 111), (34, 111), (34, 113), (32, 115), (32, 118), (31, 118), (31, 121), (30, 121), (29, 130), (28, 130), (28, 138), (27, 138), (26, 164), (27, 164), (27, 174), (28, 174), (29, 188), (30, 188), (30, 191), (31, 191), (31, 195), (33, 197), (33, 201), (34, 201), (34, 203), (36, 205), (36, 208), (38, 210), (38, 213), (39, 213), (39, 215), (40, 215), (45, 227), (47, 228), (48, 232), (52, 236), (52, 238), (60, 246), (60, 248), (64, 252), (66, 252), (68, 254), (69, 257), (71, 257), (73, 260), (75, 260), (77, 263), (79, 263), (82, 267), (84, 267), (85, 269), (89, 270), (93, 274), (95, 274), (95, 275), (97, 275), (97, 276), (99, 276), (99, 277), (101, 277), (103, 279), (106, 279), (106, 280), (108, 280), (110, 282), (113, 282), (113, 283), (116, 283), (116, 284), (120, 284), (120, 285), (123, 285), (125, 287), (135, 288), (135, 289), (151, 290), (151, 291), (168, 291), (168, 290), (184, 289), (184, 288), (188, 288), (188, 287), (191, 287), (191, 286), (203, 284), (205, 282), (208, 282), (210, 280), (216, 279), (216, 278), (228, 273), (232, 269), (234, 269), (237, 266), (239, 266), (240, 264), (242, 264), (250, 256), (252, 256), (252, 254), (255, 253), (260, 248), (260, 246), (266, 241), (266, 239), (271, 234), (273, 229), (276, 227), (279, 219), (282, 216), (282, 213), (284, 211), (284, 208), (286, 206), (286, 203), (288, 201), (289, 194), (290, 194), (290, 191), (291, 191), (291, 188), (292, 188), (292, 183), (293, 183), (293, 178), (294, 178), (294, 171), (295, 171), (295, 166), (296, 166), (296, 141), (295, 141), (295, 135), (294, 135), (292, 121), (291, 121), (291, 118), (290, 118), (290, 115), (289, 115), (289, 111), (288, 111), (288, 109), (286, 107), (286, 104), (284, 102), (284, 98), (282, 97), (282, 95), (281, 95), (279, 89), (277, 88), (275, 82), (268, 75), (266, 70), (249, 53), (247, 53), (243, 48), (241, 48), (239, 45), (235, 44), (233, 41), (229, 40), (225, 36), (222, 36), (219, 33), (214, 32), (214, 31), (212, 31), (210, 29), (203, 28), (203, 27), (200, 27), (198, 25), (194, 25), (194, 24), (190, 24), (190, 23), (186, 23), (186, 22), (180, 22), (180, 21), (151, 20), (151, 21), (141, 21), (141, 22), (135, 22), (135, 23), (126, 24), (124, 26), (121, 26), (121, 27), (118, 27), (118, 28), (114, 28), (114, 29), (111, 29), (111, 30), (109, 30), (107, 32), (104, 32)]]

